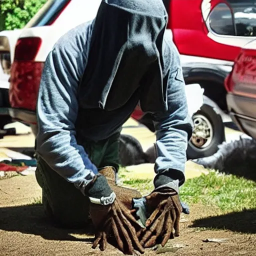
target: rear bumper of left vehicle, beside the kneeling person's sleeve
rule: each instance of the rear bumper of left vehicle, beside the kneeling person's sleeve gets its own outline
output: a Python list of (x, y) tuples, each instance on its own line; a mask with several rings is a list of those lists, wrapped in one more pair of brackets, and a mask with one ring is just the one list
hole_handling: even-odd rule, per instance
[(27, 124), (36, 124), (36, 113), (35, 111), (19, 109), (19, 108), (9, 108), (9, 115), (18, 121), (27, 123)]

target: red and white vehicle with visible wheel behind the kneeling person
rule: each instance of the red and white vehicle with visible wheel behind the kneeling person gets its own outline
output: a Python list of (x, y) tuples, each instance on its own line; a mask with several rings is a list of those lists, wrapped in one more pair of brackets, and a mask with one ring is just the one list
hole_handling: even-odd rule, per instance
[[(204, 105), (193, 115), (195, 129), (187, 156), (211, 155), (224, 140), (222, 121), (230, 121), (225, 114), (224, 79), (240, 47), (256, 35), (255, 20), (248, 16), (254, 4), (250, 0), (171, 0), (165, 4), (169, 6), (168, 28), (181, 54), (185, 82), (204, 88)], [(132, 117), (154, 130), (152, 117), (143, 114), (139, 106)]]

